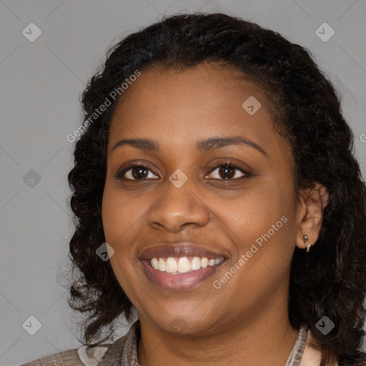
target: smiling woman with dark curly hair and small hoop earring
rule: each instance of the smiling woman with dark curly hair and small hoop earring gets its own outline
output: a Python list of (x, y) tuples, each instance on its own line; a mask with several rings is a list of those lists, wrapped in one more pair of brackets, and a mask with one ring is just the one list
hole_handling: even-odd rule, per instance
[(366, 365), (365, 184), (304, 48), (170, 16), (114, 46), (82, 102), (69, 303), (87, 347), (27, 365)]

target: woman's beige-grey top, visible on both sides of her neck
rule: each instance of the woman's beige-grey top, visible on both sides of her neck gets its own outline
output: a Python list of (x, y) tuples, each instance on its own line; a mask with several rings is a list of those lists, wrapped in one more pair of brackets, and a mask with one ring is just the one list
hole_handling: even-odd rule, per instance
[[(21, 366), (139, 366), (138, 329), (139, 320), (132, 324), (127, 335), (120, 337), (112, 344), (93, 348), (82, 346)], [(304, 325), (300, 328), (285, 366), (320, 366), (321, 354), (308, 345), (311, 339), (311, 333)], [(338, 366), (338, 363), (332, 366)]]

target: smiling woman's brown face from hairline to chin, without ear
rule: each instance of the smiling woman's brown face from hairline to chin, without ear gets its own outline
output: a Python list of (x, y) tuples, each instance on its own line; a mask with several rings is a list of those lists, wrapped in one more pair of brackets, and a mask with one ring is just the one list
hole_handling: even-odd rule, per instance
[(301, 217), (290, 148), (237, 73), (142, 71), (112, 119), (110, 262), (140, 319), (163, 330), (213, 332), (287, 310)]

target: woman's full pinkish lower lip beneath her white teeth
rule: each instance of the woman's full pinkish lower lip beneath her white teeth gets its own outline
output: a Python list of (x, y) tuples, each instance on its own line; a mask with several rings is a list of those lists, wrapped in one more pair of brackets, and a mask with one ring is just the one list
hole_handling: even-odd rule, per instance
[(182, 274), (170, 274), (167, 272), (159, 271), (154, 269), (149, 264), (149, 260), (142, 259), (144, 265), (144, 272), (147, 274), (152, 282), (162, 287), (164, 290), (179, 291), (179, 290), (190, 290), (193, 287), (199, 285), (207, 278), (211, 277), (216, 272), (217, 267), (222, 266), (224, 261), (208, 266), (206, 268), (194, 269), (192, 272)]

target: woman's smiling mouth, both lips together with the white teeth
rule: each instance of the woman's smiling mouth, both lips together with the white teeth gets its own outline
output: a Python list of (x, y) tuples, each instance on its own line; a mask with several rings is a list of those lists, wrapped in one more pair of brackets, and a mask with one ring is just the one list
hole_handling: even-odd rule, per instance
[(227, 258), (191, 243), (166, 244), (144, 251), (140, 256), (144, 272), (164, 290), (190, 290), (207, 280)]

